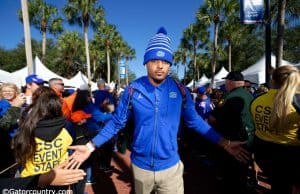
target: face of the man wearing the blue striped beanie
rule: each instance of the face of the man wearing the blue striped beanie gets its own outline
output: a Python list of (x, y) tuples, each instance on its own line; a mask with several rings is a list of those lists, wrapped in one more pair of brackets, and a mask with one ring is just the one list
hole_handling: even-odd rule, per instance
[(151, 60), (146, 64), (146, 67), (150, 82), (159, 85), (166, 79), (170, 64), (163, 60)]

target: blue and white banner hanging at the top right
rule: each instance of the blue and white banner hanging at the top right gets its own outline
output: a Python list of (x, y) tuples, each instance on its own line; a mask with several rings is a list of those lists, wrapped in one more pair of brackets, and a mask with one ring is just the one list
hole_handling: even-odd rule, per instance
[(240, 0), (241, 22), (244, 24), (262, 23), (264, 16), (264, 0)]

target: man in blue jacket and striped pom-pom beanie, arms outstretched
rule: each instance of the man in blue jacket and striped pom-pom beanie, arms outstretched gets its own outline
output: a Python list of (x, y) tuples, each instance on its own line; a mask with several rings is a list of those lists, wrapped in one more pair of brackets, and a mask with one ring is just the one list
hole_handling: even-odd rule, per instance
[[(181, 116), (189, 128), (194, 128), (210, 141), (224, 147), (238, 160), (248, 160), (241, 147), (245, 142), (230, 142), (217, 134), (198, 116), (194, 102), (186, 90), (185, 105), (177, 83), (168, 76), (173, 62), (170, 38), (164, 28), (151, 38), (144, 55), (147, 76), (125, 89), (112, 120), (92, 141), (83, 146), (73, 146), (71, 156), (78, 167), (96, 147), (101, 146), (125, 127), (132, 111), (134, 133), (131, 161), (135, 192), (183, 194), (183, 164), (180, 161), (177, 133)], [(132, 108), (129, 108), (129, 107)]]

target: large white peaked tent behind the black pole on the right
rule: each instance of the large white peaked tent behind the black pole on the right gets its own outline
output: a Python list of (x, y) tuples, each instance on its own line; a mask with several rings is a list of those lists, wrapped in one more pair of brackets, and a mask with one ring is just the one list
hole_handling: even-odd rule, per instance
[[(271, 66), (275, 68), (276, 64), (276, 57), (274, 55), (271, 55)], [(292, 64), (288, 61), (282, 60), (282, 65), (288, 65)], [(244, 75), (244, 78), (246, 80), (249, 80), (251, 82), (257, 83), (257, 84), (263, 84), (266, 80), (266, 57), (263, 56), (261, 59), (259, 59), (255, 64), (251, 65), (244, 71), (242, 71), (242, 74)]]

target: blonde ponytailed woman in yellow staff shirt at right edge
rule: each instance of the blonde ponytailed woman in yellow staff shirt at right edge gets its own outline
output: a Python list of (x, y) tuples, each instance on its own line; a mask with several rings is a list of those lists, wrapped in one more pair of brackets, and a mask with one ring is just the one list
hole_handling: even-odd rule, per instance
[(251, 105), (255, 122), (254, 160), (270, 180), (271, 193), (300, 188), (300, 73), (291, 65), (272, 75), (272, 88)]

